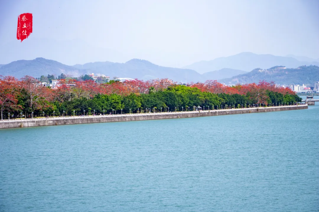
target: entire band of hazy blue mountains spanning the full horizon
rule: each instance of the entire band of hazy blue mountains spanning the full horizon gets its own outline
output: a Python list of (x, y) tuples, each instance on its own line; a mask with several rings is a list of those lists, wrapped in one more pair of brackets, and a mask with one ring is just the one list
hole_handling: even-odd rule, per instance
[[(172, 68), (155, 65), (147, 60), (131, 59), (125, 63), (114, 62), (93, 62), (83, 65), (64, 65), (55, 60), (45, 58), (36, 58), (33, 60), (18, 60), (6, 65), (0, 65), (0, 75), (11, 75), (21, 78), (24, 75), (40, 77), (41, 75), (55, 74), (56, 76), (64, 73), (73, 77), (94, 73), (95, 75), (104, 74), (120, 78), (133, 79), (156, 79), (169, 78), (176, 82), (204, 82), (205, 80), (219, 80), (226, 84), (258, 82), (260, 79), (273, 80), (280, 84), (291, 83), (311, 83), (318, 81), (316, 75), (317, 66), (297, 69), (301, 65), (319, 65), (319, 62), (299, 61), (297, 56), (279, 57), (273, 55), (257, 55), (254, 53), (243, 52), (237, 55), (216, 58), (212, 61), (201, 61), (185, 68)], [(293, 58), (295, 57), (295, 58)], [(298, 57), (312, 60), (311, 58)], [(293, 74), (285, 75), (280, 71), (272, 70), (265, 72), (256, 72), (260, 69), (267, 69), (273, 66), (286, 66), (286, 72)], [(289, 69), (292, 68), (292, 69)], [(253, 70), (253, 71), (251, 71)], [(277, 74), (275, 74), (275, 72)], [(202, 74), (201, 74), (202, 73)], [(319, 71), (318, 71), (319, 74)], [(307, 76), (311, 76), (307, 79)], [(301, 80), (301, 81), (300, 81)], [(305, 81), (302, 81), (305, 80)]]

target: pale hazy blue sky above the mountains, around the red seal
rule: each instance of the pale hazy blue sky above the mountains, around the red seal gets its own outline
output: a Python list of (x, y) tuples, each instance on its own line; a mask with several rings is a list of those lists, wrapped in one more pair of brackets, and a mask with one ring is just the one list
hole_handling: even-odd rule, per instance
[[(182, 67), (249, 51), (319, 58), (317, 0), (0, 0), (0, 64), (131, 58)], [(16, 39), (21, 13), (33, 33)]]

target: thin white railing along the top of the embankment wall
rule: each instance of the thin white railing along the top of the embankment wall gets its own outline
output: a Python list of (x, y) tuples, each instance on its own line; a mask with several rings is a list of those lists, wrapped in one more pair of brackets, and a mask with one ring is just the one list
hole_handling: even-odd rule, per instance
[[(307, 104), (305, 104), (307, 105)], [(232, 108), (232, 109), (217, 109), (217, 110), (201, 110), (201, 111), (177, 111), (177, 112), (156, 112), (156, 113), (125, 113), (125, 114), (106, 114), (106, 115), (85, 115), (85, 116), (56, 116), (56, 117), (38, 117), (38, 118), (17, 118), (0, 120), (1, 122), (10, 121), (29, 121), (29, 120), (59, 120), (59, 119), (83, 119), (83, 118), (101, 118), (101, 117), (116, 117), (116, 116), (149, 116), (149, 115), (172, 115), (172, 114), (189, 114), (189, 113), (217, 113), (222, 111), (237, 111), (237, 110), (256, 110), (258, 108), (281, 108), (281, 107), (298, 107), (305, 105), (289, 105), (289, 106), (270, 106), (270, 107), (248, 107), (248, 108)]]

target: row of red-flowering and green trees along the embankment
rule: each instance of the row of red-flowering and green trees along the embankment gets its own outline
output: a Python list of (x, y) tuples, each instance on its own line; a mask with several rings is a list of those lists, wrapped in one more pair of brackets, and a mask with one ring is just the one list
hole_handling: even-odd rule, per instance
[[(69, 83), (69, 84), (67, 84)], [(71, 84), (70, 84), (71, 83)], [(59, 82), (55, 89), (30, 77), (0, 76), (1, 119), (242, 108), (292, 105), (301, 99), (289, 88), (261, 81), (226, 86), (216, 80), (176, 85), (168, 79), (98, 84), (93, 80)]]

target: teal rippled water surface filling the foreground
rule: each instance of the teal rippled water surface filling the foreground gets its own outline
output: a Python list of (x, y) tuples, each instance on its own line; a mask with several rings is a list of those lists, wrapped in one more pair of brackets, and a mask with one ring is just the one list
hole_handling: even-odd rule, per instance
[(3, 129), (0, 211), (318, 211), (318, 127), (317, 102)]

